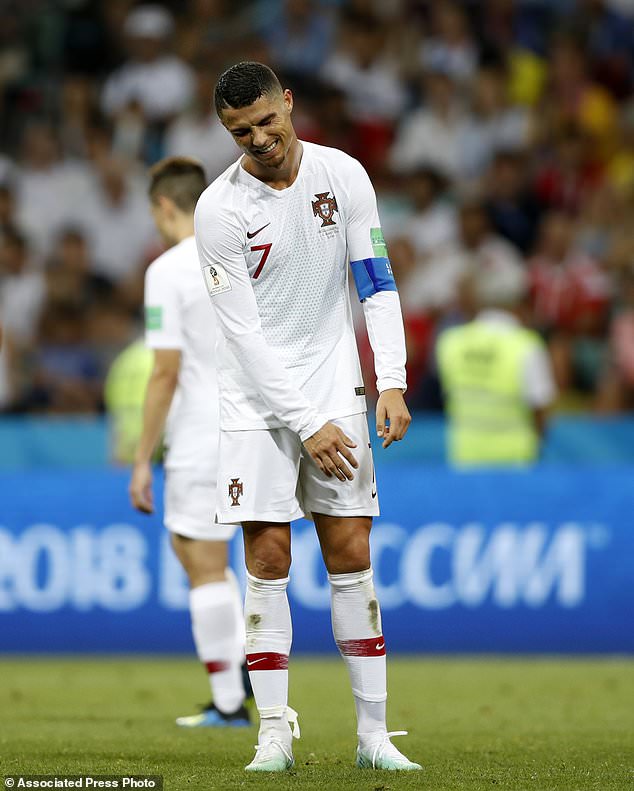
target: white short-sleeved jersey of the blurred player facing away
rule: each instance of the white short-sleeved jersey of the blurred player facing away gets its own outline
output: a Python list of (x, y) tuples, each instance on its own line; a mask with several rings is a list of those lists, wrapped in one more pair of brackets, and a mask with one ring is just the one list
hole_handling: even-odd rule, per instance
[(193, 236), (167, 250), (145, 275), (146, 343), (179, 349), (178, 385), (167, 416), (165, 468), (215, 476), (218, 456), (216, 316), (200, 276)]

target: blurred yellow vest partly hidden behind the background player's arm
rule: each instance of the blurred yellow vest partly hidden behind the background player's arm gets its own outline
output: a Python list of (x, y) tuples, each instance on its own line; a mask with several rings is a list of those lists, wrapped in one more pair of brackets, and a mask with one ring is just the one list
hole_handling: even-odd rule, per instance
[(143, 428), (143, 402), (152, 373), (154, 352), (143, 339), (133, 341), (113, 360), (104, 385), (110, 420), (110, 457), (131, 464)]

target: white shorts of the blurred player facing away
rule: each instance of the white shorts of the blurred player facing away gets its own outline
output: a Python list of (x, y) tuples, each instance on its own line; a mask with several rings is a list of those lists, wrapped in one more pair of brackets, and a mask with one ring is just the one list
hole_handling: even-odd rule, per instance
[(218, 524), (216, 482), (201, 479), (198, 470), (166, 470), (165, 527), (172, 533), (199, 541), (229, 541), (236, 525)]

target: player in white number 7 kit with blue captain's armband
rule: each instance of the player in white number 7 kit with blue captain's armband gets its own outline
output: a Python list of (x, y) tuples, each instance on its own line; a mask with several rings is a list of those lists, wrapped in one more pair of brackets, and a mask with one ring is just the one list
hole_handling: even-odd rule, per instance
[(290, 522), (312, 515), (356, 703), (357, 765), (420, 769), (386, 728), (385, 640), (369, 550), (379, 511), (348, 297), (350, 263), (387, 447), (410, 416), (403, 323), (374, 190), (356, 160), (298, 141), (292, 94), (267, 66), (228, 69), (215, 104), (244, 154), (201, 196), (195, 232), (222, 332), (217, 518), (242, 524), (248, 570), (247, 666), (260, 731), (246, 768), (293, 765)]

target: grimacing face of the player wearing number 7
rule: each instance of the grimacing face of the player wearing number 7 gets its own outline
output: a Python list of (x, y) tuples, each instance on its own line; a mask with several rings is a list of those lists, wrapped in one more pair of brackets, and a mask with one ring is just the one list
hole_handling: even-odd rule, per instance
[(279, 168), (295, 139), (291, 122), (293, 95), (263, 94), (247, 107), (222, 110), (220, 120), (233, 139), (256, 165)]

